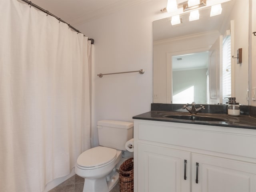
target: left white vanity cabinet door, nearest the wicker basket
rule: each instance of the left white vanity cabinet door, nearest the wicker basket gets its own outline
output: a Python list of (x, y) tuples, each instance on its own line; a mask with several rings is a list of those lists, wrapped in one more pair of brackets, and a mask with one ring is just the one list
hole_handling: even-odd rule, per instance
[(190, 154), (138, 143), (138, 192), (190, 192)]

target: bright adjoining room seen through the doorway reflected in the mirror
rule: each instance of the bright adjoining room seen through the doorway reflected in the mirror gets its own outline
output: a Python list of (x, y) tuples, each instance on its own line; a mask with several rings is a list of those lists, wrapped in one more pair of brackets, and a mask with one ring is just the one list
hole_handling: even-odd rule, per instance
[(172, 56), (172, 102), (206, 103), (208, 52)]

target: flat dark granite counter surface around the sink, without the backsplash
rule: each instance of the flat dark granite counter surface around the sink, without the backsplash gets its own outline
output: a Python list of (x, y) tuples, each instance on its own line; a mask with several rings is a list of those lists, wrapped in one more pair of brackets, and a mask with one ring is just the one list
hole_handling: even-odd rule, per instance
[(227, 114), (203, 114), (203, 113), (198, 114), (200, 116), (204, 115), (204, 116), (210, 116), (213, 118), (224, 118), (224, 119), (226, 119), (225, 122), (182, 120), (182, 119), (165, 117), (168, 115), (184, 115), (184, 114), (189, 114), (189, 113), (188, 112), (150, 111), (150, 112), (146, 112), (146, 113), (134, 116), (133, 119), (256, 129), (256, 118), (253, 118), (251, 116), (246, 116), (246, 115), (244, 115), (244, 116), (228, 116)]

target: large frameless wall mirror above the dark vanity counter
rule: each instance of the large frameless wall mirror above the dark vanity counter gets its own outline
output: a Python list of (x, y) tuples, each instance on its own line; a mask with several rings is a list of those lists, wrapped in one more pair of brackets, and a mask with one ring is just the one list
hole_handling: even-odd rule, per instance
[[(222, 3), (217, 16), (210, 17), (210, 10), (200, 9), (194, 21), (181, 14), (177, 25), (171, 17), (153, 22), (154, 103), (225, 104), (232, 96), (248, 105), (249, 1)], [(242, 63), (237, 64), (239, 48)]]

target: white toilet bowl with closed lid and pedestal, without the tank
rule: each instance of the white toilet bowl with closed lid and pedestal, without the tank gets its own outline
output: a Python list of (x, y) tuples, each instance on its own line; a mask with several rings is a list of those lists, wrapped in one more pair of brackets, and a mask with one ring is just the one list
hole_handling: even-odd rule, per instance
[(119, 180), (116, 164), (121, 156), (122, 151), (102, 146), (80, 154), (75, 172), (85, 178), (83, 192), (109, 192)]

